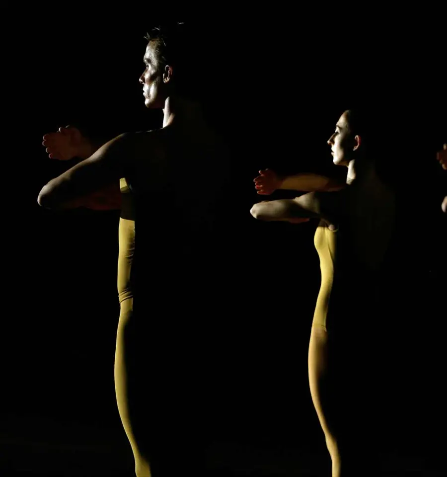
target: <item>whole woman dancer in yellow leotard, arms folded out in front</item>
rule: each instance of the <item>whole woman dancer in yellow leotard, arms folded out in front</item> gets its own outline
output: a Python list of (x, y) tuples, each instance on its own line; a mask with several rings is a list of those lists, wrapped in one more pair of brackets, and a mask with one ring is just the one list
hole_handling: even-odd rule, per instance
[[(348, 167), (342, 190), (321, 191), (328, 183), (315, 183), (307, 175), (314, 192), (260, 202), (251, 209), (260, 220), (320, 219), (314, 244), (321, 287), (310, 332), (308, 373), (334, 477), (377, 475), (378, 467), (373, 431), (379, 348), (374, 340), (380, 269), (393, 234), (395, 196), (377, 171), (367, 133), (362, 117), (348, 110), (328, 140), (334, 163)], [(271, 193), (278, 185), (308, 190), (305, 178), (298, 175), (282, 183), (264, 172), (255, 182), (259, 193)]]

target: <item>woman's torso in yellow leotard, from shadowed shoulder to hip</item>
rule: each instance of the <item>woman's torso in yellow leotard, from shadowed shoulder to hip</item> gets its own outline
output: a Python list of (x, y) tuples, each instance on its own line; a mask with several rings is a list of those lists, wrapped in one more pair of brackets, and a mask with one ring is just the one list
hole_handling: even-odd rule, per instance
[(378, 322), (380, 277), (395, 225), (394, 194), (379, 181), (348, 186), (342, 194), (334, 230), (321, 221), (314, 236), (321, 286), (313, 325), (334, 336), (372, 329)]

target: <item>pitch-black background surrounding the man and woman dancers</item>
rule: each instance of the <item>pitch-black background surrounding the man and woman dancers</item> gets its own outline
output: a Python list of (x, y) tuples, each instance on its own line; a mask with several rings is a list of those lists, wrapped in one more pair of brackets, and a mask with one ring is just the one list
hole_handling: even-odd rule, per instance
[[(113, 134), (159, 127), (161, 112), (145, 109), (138, 82), (143, 36), (159, 17), (149, 17), (147, 5), (101, 14), (70, 4), (2, 9), (4, 475), (130, 476), (133, 457), (113, 384), (119, 215), (47, 211), (37, 195), (66, 168), (45, 154), (46, 132), (75, 122)], [(447, 121), (436, 23), (426, 34), (421, 25), (428, 28), (429, 19), (419, 18), (416, 28), (414, 18), (382, 15), (360, 35), (364, 23), (356, 15), (206, 15), (214, 34), (204, 39), (213, 52), (200, 80), (214, 88), (216, 118), (234, 152), (229, 197), (247, 212), (233, 227), (241, 243), (234, 274), (245, 277), (246, 290), (228, 319), (240, 360), (234, 366), (237, 424), (211, 459), (224, 462), (221, 467), (264, 466), (265, 474), (251, 475), (289, 475), (280, 474), (287, 466), (292, 472), (307, 465), (308, 475), (328, 469), (307, 382), (319, 286), (316, 224), (257, 223), (249, 214), (259, 200), (252, 179), (263, 167), (343, 177), (326, 141), (346, 105), (367, 96), (383, 108), (384, 122), (382, 105), (390, 101), (405, 119), (395, 137), (407, 204), (399, 249), (405, 268), (396, 275), (389, 313), (398, 336), (398, 371), (389, 390), (396, 421), (384, 432), (384, 459), (393, 468), (442, 468), (446, 236), (440, 206), (447, 172), (435, 154), (447, 142)], [(224, 220), (231, 227), (231, 217)]]

